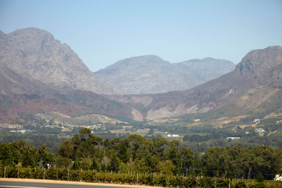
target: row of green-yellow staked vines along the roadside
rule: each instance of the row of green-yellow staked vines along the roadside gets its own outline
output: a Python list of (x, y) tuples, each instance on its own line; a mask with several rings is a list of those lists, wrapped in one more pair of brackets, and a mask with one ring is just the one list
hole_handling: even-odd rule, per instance
[(150, 185), (179, 188), (281, 188), (282, 182), (254, 180), (230, 180), (212, 177), (169, 176), (156, 173), (97, 172), (97, 170), (70, 170), (67, 168), (18, 168), (0, 167), (1, 178), (46, 179), (113, 183), (125, 185)]

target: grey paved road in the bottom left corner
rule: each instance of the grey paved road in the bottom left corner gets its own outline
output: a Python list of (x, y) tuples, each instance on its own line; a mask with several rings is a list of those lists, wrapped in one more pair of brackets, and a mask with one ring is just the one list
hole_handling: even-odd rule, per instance
[[(20, 181), (0, 181), (1, 187), (10, 188), (128, 188), (108, 185), (78, 185), (78, 184), (60, 184), (60, 183), (37, 183), (37, 182), (20, 182)], [(133, 187), (131, 187), (133, 188)]]

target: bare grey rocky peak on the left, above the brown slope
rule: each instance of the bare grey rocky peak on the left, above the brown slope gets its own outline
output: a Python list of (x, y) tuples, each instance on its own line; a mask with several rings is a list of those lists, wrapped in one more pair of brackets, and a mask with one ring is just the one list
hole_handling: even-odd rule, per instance
[(18, 29), (9, 34), (0, 31), (0, 63), (19, 75), (57, 88), (121, 93), (98, 81), (67, 44), (37, 28)]

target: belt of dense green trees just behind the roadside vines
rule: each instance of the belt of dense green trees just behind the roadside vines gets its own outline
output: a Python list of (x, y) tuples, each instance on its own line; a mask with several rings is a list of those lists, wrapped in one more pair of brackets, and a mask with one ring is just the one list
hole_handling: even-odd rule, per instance
[(97, 171), (161, 172), (163, 174), (222, 176), (229, 178), (255, 178), (263, 175), (271, 179), (282, 173), (282, 152), (268, 146), (245, 148), (213, 147), (204, 153), (194, 153), (180, 147), (177, 140), (165, 138), (145, 139), (139, 135), (127, 138), (102, 139), (81, 128), (71, 140), (60, 143), (55, 154), (47, 152), (46, 144), (39, 149), (19, 140), (0, 145), (0, 162), (6, 166), (44, 167), (48, 164), (71, 169)]

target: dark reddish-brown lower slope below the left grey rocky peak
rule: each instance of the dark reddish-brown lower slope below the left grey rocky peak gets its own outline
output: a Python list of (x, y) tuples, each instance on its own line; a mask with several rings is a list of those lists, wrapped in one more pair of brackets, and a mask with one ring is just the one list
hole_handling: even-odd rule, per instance
[(39, 112), (60, 112), (70, 117), (112, 114), (132, 117), (131, 106), (89, 91), (55, 88), (26, 78), (0, 63), (0, 122)]

